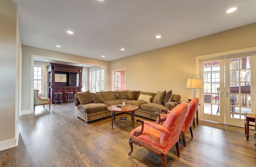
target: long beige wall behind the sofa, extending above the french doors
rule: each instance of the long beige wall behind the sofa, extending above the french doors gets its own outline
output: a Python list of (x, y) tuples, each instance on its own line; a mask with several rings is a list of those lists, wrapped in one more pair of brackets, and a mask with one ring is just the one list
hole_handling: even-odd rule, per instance
[(196, 56), (255, 46), (256, 23), (112, 61), (110, 70), (127, 68), (127, 90), (172, 89), (187, 100), (192, 89), (186, 80), (198, 78)]

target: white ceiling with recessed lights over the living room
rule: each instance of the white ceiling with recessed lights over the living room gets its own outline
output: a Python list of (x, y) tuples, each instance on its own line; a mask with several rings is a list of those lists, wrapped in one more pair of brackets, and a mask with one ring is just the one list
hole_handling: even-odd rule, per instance
[(256, 0), (12, 1), (23, 45), (106, 61), (256, 22)]

